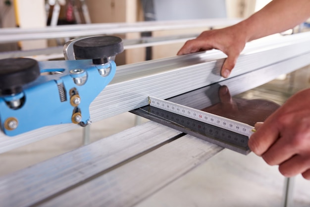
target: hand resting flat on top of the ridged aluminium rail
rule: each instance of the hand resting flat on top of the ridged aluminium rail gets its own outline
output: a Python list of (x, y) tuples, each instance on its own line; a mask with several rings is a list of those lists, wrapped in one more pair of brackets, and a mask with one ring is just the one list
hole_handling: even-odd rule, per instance
[(208, 30), (196, 39), (187, 41), (177, 55), (218, 49), (227, 55), (221, 68), (221, 75), (227, 78), (248, 39), (240, 24), (218, 30)]

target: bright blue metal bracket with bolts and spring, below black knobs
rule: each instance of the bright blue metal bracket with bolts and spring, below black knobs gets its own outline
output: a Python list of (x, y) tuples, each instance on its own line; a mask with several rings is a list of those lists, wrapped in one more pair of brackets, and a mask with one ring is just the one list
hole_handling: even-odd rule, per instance
[(41, 75), (21, 93), (0, 96), (1, 130), (8, 136), (54, 124), (87, 125), (90, 104), (116, 71), (113, 60), (42, 61), (39, 66)]

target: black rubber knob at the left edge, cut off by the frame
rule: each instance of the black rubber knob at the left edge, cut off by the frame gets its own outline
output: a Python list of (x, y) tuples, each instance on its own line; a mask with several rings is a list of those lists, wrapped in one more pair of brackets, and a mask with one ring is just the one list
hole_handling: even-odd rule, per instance
[(0, 94), (11, 95), (22, 92), (22, 86), (40, 76), (37, 60), (30, 58), (0, 59)]

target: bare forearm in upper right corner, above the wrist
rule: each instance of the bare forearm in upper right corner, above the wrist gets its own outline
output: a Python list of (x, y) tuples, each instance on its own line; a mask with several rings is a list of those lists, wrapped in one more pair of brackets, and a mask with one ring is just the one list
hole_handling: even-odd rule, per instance
[(248, 42), (291, 29), (309, 17), (310, 0), (272, 0), (238, 26)]

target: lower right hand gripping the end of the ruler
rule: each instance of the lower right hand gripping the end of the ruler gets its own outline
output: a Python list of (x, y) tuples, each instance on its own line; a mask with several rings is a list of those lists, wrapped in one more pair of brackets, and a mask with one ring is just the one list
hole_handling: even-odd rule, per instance
[(299, 173), (310, 180), (310, 89), (292, 96), (249, 140), (250, 149), (286, 177)]

